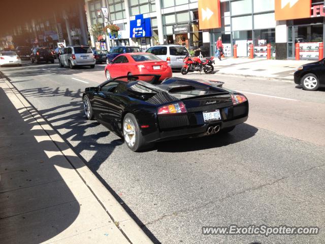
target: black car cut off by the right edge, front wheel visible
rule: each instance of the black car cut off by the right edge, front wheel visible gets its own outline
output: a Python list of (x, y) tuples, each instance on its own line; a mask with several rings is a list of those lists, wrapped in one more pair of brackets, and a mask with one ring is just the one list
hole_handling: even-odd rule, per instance
[(317, 90), (325, 87), (325, 58), (302, 65), (294, 73), (295, 83), (301, 85), (304, 90)]

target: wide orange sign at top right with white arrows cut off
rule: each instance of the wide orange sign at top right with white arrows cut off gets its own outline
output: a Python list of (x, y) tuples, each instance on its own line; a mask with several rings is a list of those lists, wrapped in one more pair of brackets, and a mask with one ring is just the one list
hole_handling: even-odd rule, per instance
[(275, 20), (310, 18), (311, 0), (275, 0)]

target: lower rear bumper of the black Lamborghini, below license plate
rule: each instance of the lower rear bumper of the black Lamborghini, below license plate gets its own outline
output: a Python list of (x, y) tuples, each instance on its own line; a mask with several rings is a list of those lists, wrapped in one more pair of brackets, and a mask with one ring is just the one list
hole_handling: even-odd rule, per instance
[(144, 136), (147, 142), (156, 142), (156, 141), (165, 141), (165, 140), (173, 140), (180, 138), (194, 138), (194, 137), (202, 137), (205, 136), (207, 130), (211, 126), (220, 126), (220, 130), (233, 127), (244, 123), (248, 118), (247, 116), (232, 119), (229, 121), (217, 121), (215, 123), (204, 124), (196, 127), (186, 127), (178, 130), (170, 130), (170, 131), (162, 131), (159, 132), (158, 129), (155, 133), (150, 133)]

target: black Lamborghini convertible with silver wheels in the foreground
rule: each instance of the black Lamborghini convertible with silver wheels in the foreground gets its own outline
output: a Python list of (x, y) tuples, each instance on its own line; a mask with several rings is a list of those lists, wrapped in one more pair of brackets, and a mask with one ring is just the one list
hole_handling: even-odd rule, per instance
[[(150, 81), (143, 81), (149, 76)], [(230, 132), (248, 118), (247, 98), (222, 88), (222, 82), (159, 80), (160, 75), (136, 74), (88, 87), (84, 113), (124, 138), (133, 151), (156, 141)]]

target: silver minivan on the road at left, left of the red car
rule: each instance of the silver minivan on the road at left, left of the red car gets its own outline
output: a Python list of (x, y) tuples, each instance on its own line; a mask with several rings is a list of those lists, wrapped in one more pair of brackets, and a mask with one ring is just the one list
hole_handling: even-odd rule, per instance
[(89, 65), (94, 68), (96, 59), (89, 46), (72, 46), (64, 47), (61, 55), (59, 56), (59, 66), (69, 66), (73, 69), (76, 66)]

